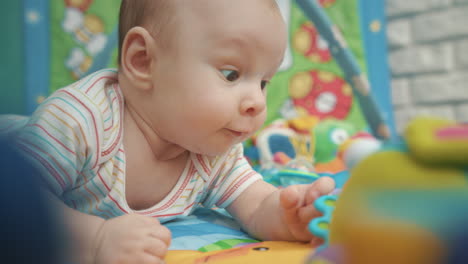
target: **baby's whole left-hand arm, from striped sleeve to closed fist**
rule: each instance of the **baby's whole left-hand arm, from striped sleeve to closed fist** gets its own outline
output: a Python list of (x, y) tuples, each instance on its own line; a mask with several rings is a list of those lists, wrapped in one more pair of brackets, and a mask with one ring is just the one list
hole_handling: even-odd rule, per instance
[(104, 124), (103, 112), (92, 101), (78, 86), (58, 90), (12, 138), (37, 168), (50, 203), (62, 214), (73, 263), (161, 263), (170, 232), (157, 219), (124, 215), (105, 221), (71, 209), (60, 199), (79, 187), (82, 172), (95, 170), (102, 158), (105, 135), (97, 124)]

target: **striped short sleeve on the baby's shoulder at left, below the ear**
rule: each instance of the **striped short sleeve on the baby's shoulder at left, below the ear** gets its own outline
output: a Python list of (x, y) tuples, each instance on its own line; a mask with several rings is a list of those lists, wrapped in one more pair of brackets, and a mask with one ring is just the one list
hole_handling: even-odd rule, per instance
[(14, 136), (18, 150), (56, 196), (74, 188), (82, 171), (96, 166), (97, 118), (87, 96), (65, 88), (52, 94)]

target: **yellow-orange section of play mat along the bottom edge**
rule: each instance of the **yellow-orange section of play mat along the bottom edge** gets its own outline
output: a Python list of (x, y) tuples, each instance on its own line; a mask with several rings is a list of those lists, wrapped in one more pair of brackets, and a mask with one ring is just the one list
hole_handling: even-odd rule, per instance
[(311, 252), (309, 244), (281, 241), (264, 241), (238, 248), (200, 252), (172, 250), (166, 256), (166, 264), (248, 264), (248, 263), (291, 263), (302, 264)]

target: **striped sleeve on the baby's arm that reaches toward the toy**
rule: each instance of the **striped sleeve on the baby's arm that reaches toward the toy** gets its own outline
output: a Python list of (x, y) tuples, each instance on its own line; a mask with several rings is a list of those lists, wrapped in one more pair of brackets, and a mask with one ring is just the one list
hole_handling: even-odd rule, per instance
[(235, 145), (224, 159), (219, 159), (213, 171), (219, 173), (208, 185), (208, 196), (203, 203), (208, 208), (228, 207), (247, 187), (262, 179), (244, 157), (242, 144)]

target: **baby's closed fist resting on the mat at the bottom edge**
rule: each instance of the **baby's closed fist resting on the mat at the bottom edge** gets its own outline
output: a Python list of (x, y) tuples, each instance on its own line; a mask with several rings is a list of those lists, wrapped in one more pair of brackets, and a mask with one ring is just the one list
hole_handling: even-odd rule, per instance
[(97, 264), (161, 264), (171, 241), (169, 229), (155, 218), (129, 214), (104, 222), (96, 235)]

